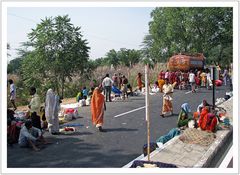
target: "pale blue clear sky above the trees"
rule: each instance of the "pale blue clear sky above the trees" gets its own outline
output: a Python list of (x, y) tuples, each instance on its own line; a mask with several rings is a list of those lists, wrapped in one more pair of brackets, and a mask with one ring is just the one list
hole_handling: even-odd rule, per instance
[(69, 15), (74, 26), (80, 26), (91, 47), (90, 58), (104, 57), (110, 49), (140, 49), (148, 33), (152, 7), (8, 7), (7, 42), (11, 57), (27, 33), (45, 17)]

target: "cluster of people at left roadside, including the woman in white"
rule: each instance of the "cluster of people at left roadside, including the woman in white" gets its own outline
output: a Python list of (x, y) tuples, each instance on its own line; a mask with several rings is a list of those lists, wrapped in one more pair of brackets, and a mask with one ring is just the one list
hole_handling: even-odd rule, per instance
[[(16, 91), (11, 91), (13, 88), (13, 81), (10, 83), (10, 100), (12, 95)], [(58, 112), (60, 110), (60, 97), (53, 89), (48, 89), (46, 93), (45, 105), (41, 106), (40, 97), (37, 94), (35, 87), (30, 88), (31, 101), (28, 105), (28, 112), (25, 119), (21, 122), (14, 117), (14, 111), (16, 110), (15, 103), (12, 103), (14, 109), (8, 109), (8, 138), (10, 143), (18, 142), (21, 147), (31, 146), (35, 151), (39, 148), (36, 146), (40, 141), (46, 144), (46, 140), (43, 138), (43, 130), (47, 129), (51, 134), (59, 134), (59, 119)], [(11, 101), (12, 102), (12, 101)], [(17, 138), (17, 139), (16, 139)]]

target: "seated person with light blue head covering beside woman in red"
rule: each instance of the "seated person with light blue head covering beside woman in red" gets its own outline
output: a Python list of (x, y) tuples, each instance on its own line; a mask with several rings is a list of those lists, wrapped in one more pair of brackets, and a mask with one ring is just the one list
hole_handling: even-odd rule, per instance
[(178, 115), (177, 126), (186, 127), (188, 126), (188, 121), (192, 119), (191, 109), (188, 103), (183, 103), (181, 106), (181, 111)]

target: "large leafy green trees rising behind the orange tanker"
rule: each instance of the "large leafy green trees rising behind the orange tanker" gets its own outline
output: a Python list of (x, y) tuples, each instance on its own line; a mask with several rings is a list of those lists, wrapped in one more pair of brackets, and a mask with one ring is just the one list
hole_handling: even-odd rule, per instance
[[(173, 54), (184, 52), (204, 53), (218, 61), (222, 61), (223, 53), (232, 55), (232, 8), (159, 7), (151, 17), (151, 38), (146, 36), (143, 41), (145, 56), (148, 51), (151, 58), (165, 62)], [(218, 50), (217, 57), (212, 50)]]

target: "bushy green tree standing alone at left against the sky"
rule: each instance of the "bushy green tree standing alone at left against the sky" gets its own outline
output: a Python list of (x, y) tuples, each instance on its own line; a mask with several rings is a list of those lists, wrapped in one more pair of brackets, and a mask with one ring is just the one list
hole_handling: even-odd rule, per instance
[(66, 80), (82, 74), (88, 64), (89, 47), (80, 27), (74, 27), (68, 15), (45, 18), (28, 38), (32, 51), (22, 63), (25, 83), (49, 85), (63, 96)]

